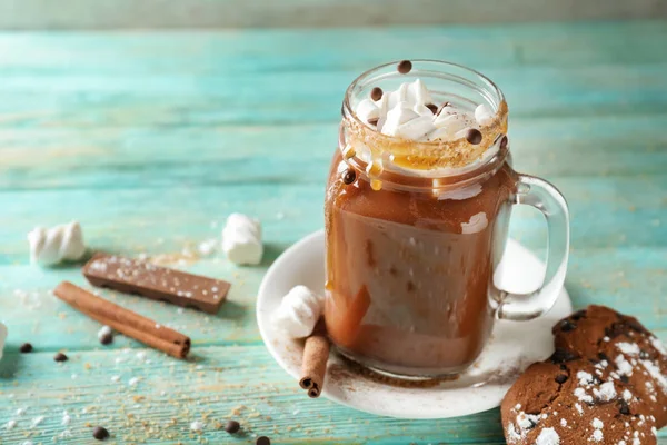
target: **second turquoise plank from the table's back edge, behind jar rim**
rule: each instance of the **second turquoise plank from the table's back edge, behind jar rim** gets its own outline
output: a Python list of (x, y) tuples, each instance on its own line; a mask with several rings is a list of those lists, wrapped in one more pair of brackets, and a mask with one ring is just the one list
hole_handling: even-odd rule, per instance
[[(514, 117), (618, 116), (667, 109), (667, 63), (515, 67), (487, 75)], [(614, 76), (609, 76), (613, 70)], [(357, 71), (228, 76), (4, 76), (0, 128), (226, 126), (339, 118)], [(111, 81), (112, 80), (112, 81)], [(271, 85), (270, 92), (259, 86)]]

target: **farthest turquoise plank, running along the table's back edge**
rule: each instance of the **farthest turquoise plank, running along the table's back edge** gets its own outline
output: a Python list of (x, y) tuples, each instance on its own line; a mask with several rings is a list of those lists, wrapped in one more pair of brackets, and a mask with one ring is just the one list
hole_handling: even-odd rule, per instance
[[(440, 58), (486, 70), (508, 66), (623, 66), (667, 61), (665, 21), (477, 27), (253, 29), (197, 32), (0, 32), (0, 75), (221, 76), (283, 71), (360, 73)], [(251, 57), (249, 57), (251, 56)]]

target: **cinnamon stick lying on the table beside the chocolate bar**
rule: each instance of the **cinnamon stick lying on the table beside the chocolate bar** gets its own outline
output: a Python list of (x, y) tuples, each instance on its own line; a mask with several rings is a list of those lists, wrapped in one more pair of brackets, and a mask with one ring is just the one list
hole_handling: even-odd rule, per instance
[(53, 294), (79, 312), (119, 333), (177, 358), (190, 350), (190, 338), (166, 326), (100, 298), (69, 281), (62, 281)]

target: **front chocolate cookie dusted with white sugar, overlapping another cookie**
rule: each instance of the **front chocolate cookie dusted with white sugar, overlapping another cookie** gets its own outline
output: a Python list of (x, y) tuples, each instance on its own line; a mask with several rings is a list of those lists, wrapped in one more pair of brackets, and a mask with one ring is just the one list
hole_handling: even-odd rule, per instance
[(501, 405), (508, 444), (657, 443), (655, 417), (599, 364), (558, 352), (532, 364)]

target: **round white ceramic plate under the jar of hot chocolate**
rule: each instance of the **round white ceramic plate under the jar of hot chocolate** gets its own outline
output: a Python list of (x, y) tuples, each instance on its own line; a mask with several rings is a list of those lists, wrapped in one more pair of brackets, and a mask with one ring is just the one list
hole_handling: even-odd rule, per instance
[[(297, 380), (302, 346), (276, 333), (270, 316), (293, 286), (305, 285), (323, 293), (323, 263), (325, 234), (320, 230), (287, 249), (269, 268), (259, 288), (257, 323), (261, 337), (280, 366)], [(515, 240), (509, 240), (502, 264), (507, 267), (499, 267), (504, 273), (496, 283), (509, 291), (535, 290), (544, 278), (544, 264)], [(402, 418), (447, 418), (490, 409), (500, 405), (505, 393), (530, 363), (552, 353), (551, 326), (570, 313), (570, 299), (564, 288), (546, 316), (531, 322), (496, 323), (491, 340), (477, 363), (458, 379), (434, 387), (398, 387), (371, 379), (334, 354), (322, 395), (359, 411)], [(298, 383), (295, 385), (298, 387)]]

